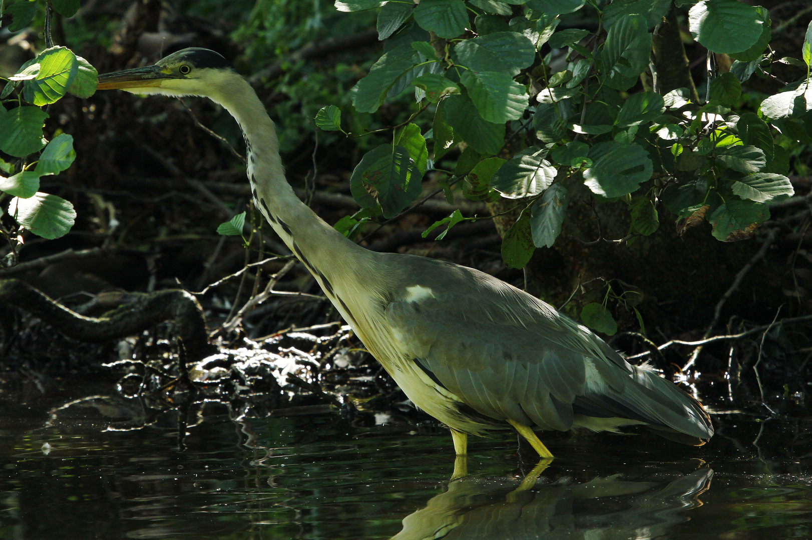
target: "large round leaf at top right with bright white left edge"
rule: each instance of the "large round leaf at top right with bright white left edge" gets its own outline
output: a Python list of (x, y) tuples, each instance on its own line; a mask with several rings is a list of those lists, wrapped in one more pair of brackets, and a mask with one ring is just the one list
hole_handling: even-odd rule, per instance
[(688, 12), (693, 38), (714, 53), (740, 53), (755, 45), (764, 21), (756, 8), (736, 0), (704, 0)]

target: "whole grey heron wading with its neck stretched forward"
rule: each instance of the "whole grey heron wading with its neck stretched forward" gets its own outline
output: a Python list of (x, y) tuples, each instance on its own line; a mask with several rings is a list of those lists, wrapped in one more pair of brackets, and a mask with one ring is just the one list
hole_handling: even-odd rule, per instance
[(208, 97), (234, 116), (257, 208), (406, 396), (451, 429), (457, 456), (468, 435), (510, 426), (542, 458), (552, 454), (537, 430), (641, 424), (695, 445), (713, 435), (687, 392), (538, 298), (473, 268), (366, 250), (322, 221), (287, 183), (264, 105), (220, 54), (183, 49), (101, 75), (98, 88)]

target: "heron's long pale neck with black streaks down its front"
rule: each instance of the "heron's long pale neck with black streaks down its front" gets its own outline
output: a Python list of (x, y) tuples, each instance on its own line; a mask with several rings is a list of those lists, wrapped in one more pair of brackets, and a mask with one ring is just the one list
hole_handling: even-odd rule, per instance
[[(339, 268), (362, 264), (371, 252), (327, 225), (296, 196), (285, 178), (274, 122), (253, 88), (240, 81), (243, 84), (231, 86), (214, 101), (231, 113), (245, 136), (254, 204), (317, 279), (321, 275), (333, 281)], [(319, 282), (327, 292), (322, 279)]]

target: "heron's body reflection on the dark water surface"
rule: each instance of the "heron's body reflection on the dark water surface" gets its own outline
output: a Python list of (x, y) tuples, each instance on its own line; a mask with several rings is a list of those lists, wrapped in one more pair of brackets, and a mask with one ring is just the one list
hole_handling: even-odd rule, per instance
[(406, 516), (403, 530), (390, 540), (657, 538), (687, 521), (683, 512), (702, 505), (698, 496), (711, 486), (712, 476), (713, 470), (704, 468), (672, 482), (629, 482), (615, 475), (536, 486), (465, 477)]

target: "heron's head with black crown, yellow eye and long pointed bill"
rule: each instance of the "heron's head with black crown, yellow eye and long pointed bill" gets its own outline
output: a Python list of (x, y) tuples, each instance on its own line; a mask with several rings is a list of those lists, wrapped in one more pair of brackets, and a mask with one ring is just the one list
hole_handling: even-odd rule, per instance
[(213, 50), (190, 47), (162, 58), (154, 66), (99, 75), (98, 89), (216, 98), (228, 92), (235, 79), (244, 81), (226, 58)]

